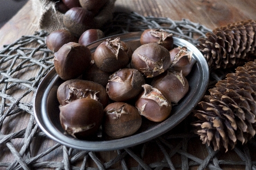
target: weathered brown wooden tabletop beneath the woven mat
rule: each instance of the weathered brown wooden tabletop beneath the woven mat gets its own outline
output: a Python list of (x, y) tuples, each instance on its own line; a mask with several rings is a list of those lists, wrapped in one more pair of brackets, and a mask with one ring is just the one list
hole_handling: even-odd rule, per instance
[[(117, 0), (115, 3), (115, 11), (135, 11), (144, 16), (156, 16), (156, 17), (168, 17), (173, 20), (189, 19), (192, 22), (200, 23), (210, 29), (216, 27), (224, 26), (228, 23), (238, 22), (246, 19), (256, 20), (256, 3), (255, 0)], [(34, 31), (39, 31), (39, 28), (36, 26), (37, 18), (32, 11), (31, 1), (15, 15), (12, 19), (9, 20), (0, 30), (0, 47), (2, 48), (5, 44), (10, 44), (14, 40), (20, 38), (22, 35), (32, 35)], [(0, 65), (1, 69), (1, 65)], [(26, 118), (23, 118), (26, 119)], [(13, 125), (10, 124), (10, 129), (19, 129), (23, 125)], [(201, 142), (195, 139), (195, 143), (190, 146), (190, 150), (194, 155), (197, 155), (201, 159), (204, 159), (207, 156), (208, 152), (205, 149), (205, 146), (201, 146)], [(17, 148), (19, 148), (19, 143)], [(46, 140), (44, 143), (40, 143), (37, 140), (34, 143), (33, 154), (40, 153), (40, 151), (45, 150), (49, 146), (54, 146), (56, 144), (52, 140)], [(199, 146), (199, 147), (198, 147)], [(1, 154), (3, 152), (3, 154)], [(160, 156), (155, 151), (154, 154), (156, 157)], [(101, 156), (103, 159), (111, 159), (112, 152), (103, 152)], [(255, 154), (253, 154), (255, 155)], [(227, 159), (230, 160), (239, 160), (237, 156), (233, 155), (233, 152), (229, 152), (224, 155)], [(45, 157), (42, 161), (61, 161), (60, 152), (56, 151)], [(255, 159), (255, 156), (253, 156)], [(148, 160), (154, 159), (154, 157), (149, 156)], [(0, 151), (0, 161), (11, 162), (13, 157), (9, 151), (1, 150)], [(132, 161), (131, 161), (132, 164)], [(117, 165), (117, 168), (120, 166)], [(235, 167), (236, 169), (243, 169), (243, 167)], [(194, 167), (196, 169), (196, 167)], [(224, 169), (234, 169), (233, 167), (225, 167)]]

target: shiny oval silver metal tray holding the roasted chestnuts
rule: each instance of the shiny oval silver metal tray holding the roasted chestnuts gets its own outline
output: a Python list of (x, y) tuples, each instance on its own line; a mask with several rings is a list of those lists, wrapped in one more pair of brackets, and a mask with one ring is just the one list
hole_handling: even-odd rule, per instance
[[(88, 48), (93, 53), (97, 46), (105, 39), (120, 38), (121, 41), (128, 43), (134, 51), (140, 46), (141, 33), (131, 32), (111, 36), (88, 45)], [(94, 141), (75, 139), (72, 136), (64, 134), (64, 130), (60, 125), (59, 102), (56, 92), (63, 80), (56, 74), (55, 69), (52, 69), (43, 78), (42, 82), (40, 82), (34, 98), (35, 118), (42, 131), (51, 139), (67, 147), (87, 151), (110, 151), (147, 142), (171, 130), (196, 107), (197, 103), (205, 94), (209, 80), (208, 65), (201, 52), (193, 44), (190, 44), (184, 39), (176, 37), (173, 37), (173, 39), (174, 45), (186, 46), (189, 51), (193, 51), (193, 57), (197, 62), (194, 64), (192, 72), (186, 76), (189, 82), (189, 92), (181, 99), (178, 105), (172, 107), (172, 113), (168, 119), (160, 123), (143, 119), (143, 125), (136, 134), (125, 138), (109, 140), (104, 138), (103, 135), (102, 138)]]

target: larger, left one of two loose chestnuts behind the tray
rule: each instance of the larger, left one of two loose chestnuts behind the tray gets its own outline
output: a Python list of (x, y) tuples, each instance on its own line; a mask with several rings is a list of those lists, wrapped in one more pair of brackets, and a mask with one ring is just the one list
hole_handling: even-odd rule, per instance
[(46, 45), (53, 52), (57, 52), (62, 45), (70, 42), (78, 43), (78, 39), (65, 29), (53, 31), (46, 37)]

